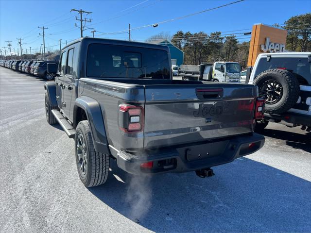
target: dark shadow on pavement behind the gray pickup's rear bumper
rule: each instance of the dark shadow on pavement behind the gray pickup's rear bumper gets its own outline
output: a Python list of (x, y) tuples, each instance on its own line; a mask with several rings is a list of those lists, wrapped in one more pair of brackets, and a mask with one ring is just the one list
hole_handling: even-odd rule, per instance
[(310, 232), (311, 182), (247, 158), (194, 172), (132, 176), (112, 163), (89, 191), (155, 232)]

